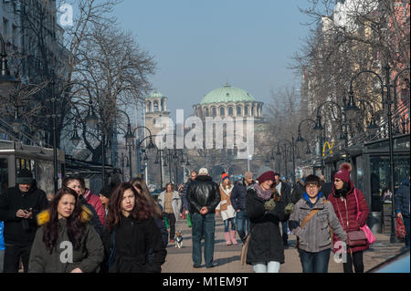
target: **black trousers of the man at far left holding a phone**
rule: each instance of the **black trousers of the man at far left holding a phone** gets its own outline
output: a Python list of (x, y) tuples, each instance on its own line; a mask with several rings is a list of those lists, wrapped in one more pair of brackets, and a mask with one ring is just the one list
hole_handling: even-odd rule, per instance
[(3, 265), (4, 273), (17, 273), (20, 265), (20, 258), (23, 262), (25, 273), (28, 271), (28, 259), (30, 257), (31, 245), (5, 244), (5, 261)]

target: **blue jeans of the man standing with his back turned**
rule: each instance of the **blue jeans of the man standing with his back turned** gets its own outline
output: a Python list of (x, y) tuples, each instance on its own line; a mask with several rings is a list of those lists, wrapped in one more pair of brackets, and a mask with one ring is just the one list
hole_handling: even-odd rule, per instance
[(201, 265), (201, 239), (204, 234), (204, 260), (205, 266), (213, 265), (214, 244), (215, 244), (215, 229), (216, 216), (215, 213), (207, 213), (202, 215), (200, 213), (191, 214), (191, 234), (193, 237), (193, 263), (194, 265)]

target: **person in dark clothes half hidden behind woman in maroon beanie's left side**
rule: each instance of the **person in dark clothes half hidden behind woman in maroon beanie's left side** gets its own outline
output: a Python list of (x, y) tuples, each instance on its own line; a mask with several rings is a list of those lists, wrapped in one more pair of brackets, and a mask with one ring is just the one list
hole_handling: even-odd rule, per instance
[(237, 233), (241, 241), (244, 243), (246, 235), (249, 234), (250, 221), (246, 213), (246, 195), (248, 185), (252, 185), (253, 174), (250, 171), (244, 173), (244, 178), (237, 182), (231, 192), (231, 204), (236, 211)]

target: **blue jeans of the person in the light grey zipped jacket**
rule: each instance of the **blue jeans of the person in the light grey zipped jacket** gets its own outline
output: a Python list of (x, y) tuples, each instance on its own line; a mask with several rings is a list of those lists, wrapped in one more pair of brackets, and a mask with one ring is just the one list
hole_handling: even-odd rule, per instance
[(303, 273), (327, 273), (331, 249), (318, 253), (303, 251), (299, 248)]

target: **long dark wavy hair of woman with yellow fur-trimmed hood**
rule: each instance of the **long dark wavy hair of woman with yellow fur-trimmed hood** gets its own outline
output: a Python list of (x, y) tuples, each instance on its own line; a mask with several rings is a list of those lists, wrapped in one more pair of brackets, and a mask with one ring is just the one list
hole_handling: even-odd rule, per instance
[(44, 225), (43, 242), (46, 244), (46, 248), (50, 253), (56, 247), (58, 241), (58, 203), (60, 202), (61, 197), (66, 194), (73, 196), (76, 201), (73, 213), (66, 219), (68, 239), (73, 244), (74, 249), (79, 249), (81, 238), (86, 229), (85, 222), (81, 220), (82, 208), (79, 203), (77, 192), (63, 186), (58, 190), (48, 206), (50, 219), (48, 223)]

